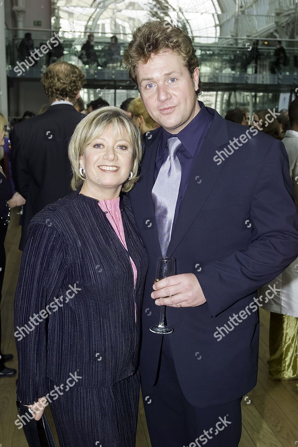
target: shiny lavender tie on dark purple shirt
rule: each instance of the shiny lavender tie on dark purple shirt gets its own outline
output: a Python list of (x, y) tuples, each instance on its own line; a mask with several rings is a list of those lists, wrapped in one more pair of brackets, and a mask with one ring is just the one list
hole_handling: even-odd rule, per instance
[(161, 165), (152, 188), (156, 229), (162, 256), (166, 256), (171, 240), (176, 202), (180, 188), (181, 165), (176, 153), (181, 144), (180, 139), (177, 137), (168, 139), (166, 146), (168, 148), (168, 157)]

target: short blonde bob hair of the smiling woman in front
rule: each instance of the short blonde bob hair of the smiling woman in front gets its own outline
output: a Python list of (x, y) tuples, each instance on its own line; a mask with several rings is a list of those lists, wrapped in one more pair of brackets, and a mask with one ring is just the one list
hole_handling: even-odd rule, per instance
[(68, 157), (71, 161), (73, 172), (71, 180), (72, 190), (77, 190), (86, 180), (86, 177), (83, 177), (80, 174), (80, 158), (84, 154), (85, 149), (94, 139), (100, 137), (109, 126), (111, 126), (114, 131), (115, 139), (118, 138), (118, 135), (122, 135), (123, 131), (126, 130), (133, 147), (131, 165), (132, 176), (123, 183), (122, 192), (130, 191), (133, 188), (134, 183), (139, 179), (139, 164), (143, 156), (143, 139), (141, 132), (136, 127), (133, 120), (126, 115), (124, 110), (109, 105), (94, 110), (88, 114), (86, 118), (83, 118), (77, 125), (71, 137), (68, 146)]

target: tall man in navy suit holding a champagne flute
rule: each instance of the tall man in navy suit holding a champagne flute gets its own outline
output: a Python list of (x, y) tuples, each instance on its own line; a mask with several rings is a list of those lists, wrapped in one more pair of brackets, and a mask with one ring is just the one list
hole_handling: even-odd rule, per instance
[[(288, 158), (280, 141), (197, 100), (197, 57), (183, 30), (142, 25), (124, 63), (160, 124), (130, 193), (150, 257), (140, 368), (152, 447), (235, 447), (241, 399), (257, 379), (257, 289), (298, 254)], [(153, 285), (165, 255), (177, 274)], [(174, 329), (166, 335), (149, 330), (161, 304)]]

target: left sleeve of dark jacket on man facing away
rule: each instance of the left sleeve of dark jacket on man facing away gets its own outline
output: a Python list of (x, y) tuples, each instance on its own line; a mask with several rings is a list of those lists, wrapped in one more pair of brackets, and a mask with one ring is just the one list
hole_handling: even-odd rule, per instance
[(11, 135), (11, 169), (15, 190), (24, 198), (27, 198), (30, 173), (25, 160), (24, 148), (22, 146), (20, 135), (17, 131), (17, 125), (13, 127)]

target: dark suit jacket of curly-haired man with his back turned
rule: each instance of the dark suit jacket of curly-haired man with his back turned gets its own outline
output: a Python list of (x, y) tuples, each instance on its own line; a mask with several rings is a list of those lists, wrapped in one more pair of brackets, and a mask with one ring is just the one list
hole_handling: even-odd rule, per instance
[(67, 146), (85, 115), (70, 104), (51, 105), (45, 113), (17, 123), (11, 138), (11, 163), (16, 190), (26, 199), (20, 250), (32, 217), (71, 192)]

